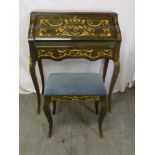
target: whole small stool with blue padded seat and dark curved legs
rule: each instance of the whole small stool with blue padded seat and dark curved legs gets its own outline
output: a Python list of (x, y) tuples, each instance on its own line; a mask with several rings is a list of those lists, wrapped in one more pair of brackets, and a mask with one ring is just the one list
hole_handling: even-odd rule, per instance
[(44, 113), (49, 122), (49, 137), (52, 136), (52, 115), (49, 108), (53, 102), (53, 114), (56, 100), (94, 100), (96, 113), (101, 105), (98, 125), (102, 137), (102, 122), (107, 112), (107, 92), (100, 74), (97, 73), (53, 73), (49, 75), (44, 91)]

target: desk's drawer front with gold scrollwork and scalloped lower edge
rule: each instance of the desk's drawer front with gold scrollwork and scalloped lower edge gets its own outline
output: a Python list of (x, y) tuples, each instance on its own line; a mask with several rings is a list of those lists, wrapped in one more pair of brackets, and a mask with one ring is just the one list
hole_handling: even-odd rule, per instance
[(114, 48), (38, 48), (38, 59), (63, 60), (67, 58), (85, 58), (88, 60), (98, 60), (103, 58), (113, 58)]

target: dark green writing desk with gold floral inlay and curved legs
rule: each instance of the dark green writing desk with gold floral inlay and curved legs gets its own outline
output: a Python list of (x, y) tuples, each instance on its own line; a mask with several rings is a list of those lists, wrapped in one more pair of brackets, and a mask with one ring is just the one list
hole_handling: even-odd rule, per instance
[(31, 12), (28, 42), (29, 70), (37, 94), (38, 113), (41, 97), (35, 66), (37, 62), (43, 93), (42, 59), (54, 61), (68, 58), (85, 58), (90, 61), (105, 59), (103, 81), (105, 81), (109, 59), (112, 60), (114, 70), (108, 92), (108, 109), (111, 110), (111, 95), (120, 69), (121, 33), (116, 13)]

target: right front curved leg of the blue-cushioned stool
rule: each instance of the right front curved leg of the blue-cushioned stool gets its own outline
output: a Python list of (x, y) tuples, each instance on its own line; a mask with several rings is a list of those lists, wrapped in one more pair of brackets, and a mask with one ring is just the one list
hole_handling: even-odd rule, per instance
[(103, 99), (100, 101), (101, 103), (101, 111), (100, 111), (100, 114), (99, 114), (99, 119), (98, 119), (98, 126), (99, 126), (99, 133), (100, 133), (100, 137), (103, 136), (102, 134), (102, 122), (103, 122), (103, 119), (107, 113), (107, 103), (106, 103), (106, 97), (103, 97)]

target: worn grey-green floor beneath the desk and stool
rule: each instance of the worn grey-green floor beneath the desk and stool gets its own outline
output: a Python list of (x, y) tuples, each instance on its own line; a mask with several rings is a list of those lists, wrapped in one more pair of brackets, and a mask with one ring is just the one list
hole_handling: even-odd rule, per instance
[(112, 113), (103, 121), (103, 139), (99, 137), (93, 102), (58, 103), (53, 137), (49, 139), (43, 110), (36, 114), (35, 94), (20, 95), (19, 100), (20, 155), (135, 154), (134, 89), (113, 94)]

